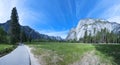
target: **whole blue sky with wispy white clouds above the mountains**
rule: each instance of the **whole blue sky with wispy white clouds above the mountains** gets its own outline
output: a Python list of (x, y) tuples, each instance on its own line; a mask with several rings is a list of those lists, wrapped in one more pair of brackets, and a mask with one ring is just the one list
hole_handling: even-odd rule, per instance
[(80, 19), (120, 23), (120, 0), (0, 0), (1, 23), (10, 19), (13, 7), (17, 7), (21, 25), (63, 38)]

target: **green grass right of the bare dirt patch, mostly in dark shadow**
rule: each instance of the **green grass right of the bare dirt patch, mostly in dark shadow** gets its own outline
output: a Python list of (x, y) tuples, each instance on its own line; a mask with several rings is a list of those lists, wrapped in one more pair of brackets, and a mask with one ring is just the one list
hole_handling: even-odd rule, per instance
[(96, 54), (101, 57), (102, 62), (111, 63), (112, 65), (120, 64), (120, 45), (104, 44), (95, 45)]

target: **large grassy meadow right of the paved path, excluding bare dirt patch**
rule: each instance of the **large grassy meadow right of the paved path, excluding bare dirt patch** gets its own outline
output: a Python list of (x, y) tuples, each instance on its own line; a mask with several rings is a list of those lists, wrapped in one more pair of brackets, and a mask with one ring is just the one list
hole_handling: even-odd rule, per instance
[(42, 65), (72, 65), (91, 51), (100, 59), (101, 65), (120, 64), (120, 45), (33, 42), (29, 46)]

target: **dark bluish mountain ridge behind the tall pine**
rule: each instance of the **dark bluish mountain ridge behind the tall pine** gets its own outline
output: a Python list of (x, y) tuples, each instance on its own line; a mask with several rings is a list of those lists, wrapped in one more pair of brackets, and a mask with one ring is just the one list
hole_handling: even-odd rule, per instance
[[(10, 28), (10, 20), (8, 20), (6, 23), (0, 24), (0, 27), (2, 27), (7, 33), (9, 33)], [(40, 34), (39, 32), (35, 31), (34, 29), (30, 28), (29, 26), (22, 26), (21, 29), (25, 31), (25, 34), (27, 36), (31, 36), (32, 39), (45, 39), (45, 40), (56, 40), (61, 41), (63, 40), (61, 37), (54, 37), (54, 36), (48, 36), (45, 34)]]

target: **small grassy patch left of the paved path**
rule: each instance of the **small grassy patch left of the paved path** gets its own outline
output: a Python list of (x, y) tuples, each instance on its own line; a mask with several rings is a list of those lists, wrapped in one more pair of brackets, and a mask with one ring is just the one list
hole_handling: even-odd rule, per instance
[(11, 52), (15, 46), (8, 45), (8, 44), (0, 44), (0, 57), (6, 55), (7, 53)]

